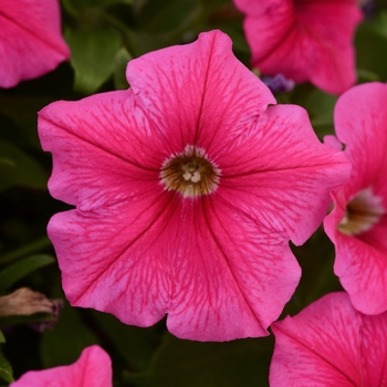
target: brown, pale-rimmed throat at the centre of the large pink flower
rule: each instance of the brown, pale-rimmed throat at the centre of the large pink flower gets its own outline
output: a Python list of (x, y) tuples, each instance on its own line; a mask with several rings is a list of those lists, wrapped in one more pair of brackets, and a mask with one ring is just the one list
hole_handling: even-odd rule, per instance
[(166, 190), (195, 198), (212, 194), (218, 188), (220, 174), (205, 149), (187, 145), (182, 153), (163, 164), (159, 176)]

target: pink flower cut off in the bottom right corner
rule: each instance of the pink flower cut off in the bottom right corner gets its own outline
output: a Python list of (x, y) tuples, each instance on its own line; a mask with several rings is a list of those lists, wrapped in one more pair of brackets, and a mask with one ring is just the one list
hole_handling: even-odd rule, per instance
[(272, 325), (271, 387), (387, 386), (387, 313), (357, 312), (331, 293)]

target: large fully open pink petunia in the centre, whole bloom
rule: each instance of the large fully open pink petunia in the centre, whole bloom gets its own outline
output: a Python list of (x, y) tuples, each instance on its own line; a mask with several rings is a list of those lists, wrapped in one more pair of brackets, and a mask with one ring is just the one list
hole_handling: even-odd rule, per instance
[(76, 206), (49, 236), (73, 305), (184, 338), (266, 335), (300, 280), (289, 248), (349, 175), (306, 112), (266, 86), (220, 31), (129, 62), (128, 91), (39, 114), (49, 188)]

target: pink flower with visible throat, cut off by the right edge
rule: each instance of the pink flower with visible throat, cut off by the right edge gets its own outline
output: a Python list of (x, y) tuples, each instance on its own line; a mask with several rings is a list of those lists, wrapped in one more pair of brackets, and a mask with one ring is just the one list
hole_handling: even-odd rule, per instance
[(353, 165), (349, 180), (333, 191), (325, 231), (336, 248), (335, 274), (354, 306), (387, 311), (387, 85), (368, 83), (343, 94), (335, 130)]

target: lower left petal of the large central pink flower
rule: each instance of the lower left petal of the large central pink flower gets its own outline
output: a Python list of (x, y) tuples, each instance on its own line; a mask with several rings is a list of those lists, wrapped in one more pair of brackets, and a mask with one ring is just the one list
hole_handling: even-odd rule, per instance
[(49, 223), (66, 297), (75, 306), (149, 326), (164, 317), (171, 292), (171, 268), (160, 202), (144, 196), (96, 211), (67, 211)]

